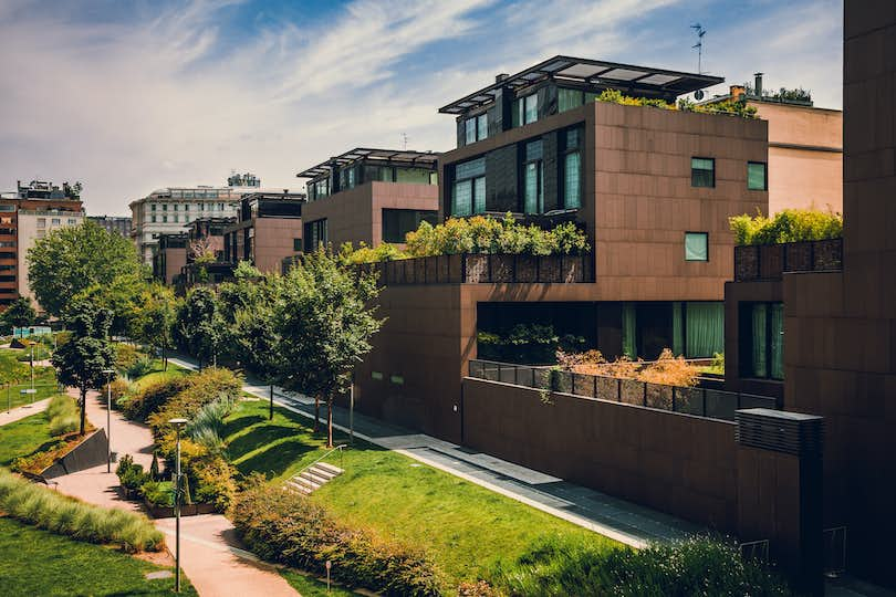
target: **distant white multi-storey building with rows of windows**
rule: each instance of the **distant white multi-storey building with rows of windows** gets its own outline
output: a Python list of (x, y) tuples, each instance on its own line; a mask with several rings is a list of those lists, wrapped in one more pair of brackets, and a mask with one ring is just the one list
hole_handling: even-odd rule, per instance
[(235, 218), (242, 195), (254, 190), (256, 187), (166, 187), (132, 201), (131, 237), (137, 252), (146, 264), (152, 264), (159, 234), (183, 232), (185, 226), (199, 218)]

